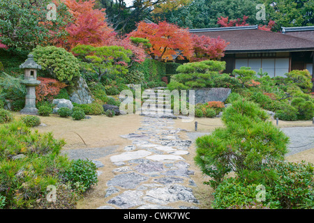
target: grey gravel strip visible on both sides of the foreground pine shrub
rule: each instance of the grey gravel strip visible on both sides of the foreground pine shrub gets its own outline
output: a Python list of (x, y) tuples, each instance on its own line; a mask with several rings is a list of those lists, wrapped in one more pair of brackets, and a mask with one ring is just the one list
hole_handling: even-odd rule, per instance
[[(314, 127), (281, 128), (281, 130), (287, 137), (290, 137), (289, 153), (286, 156), (314, 148)], [(197, 137), (210, 134), (210, 132), (187, 132), (186, 134), (190, 140), (195, 141)]]

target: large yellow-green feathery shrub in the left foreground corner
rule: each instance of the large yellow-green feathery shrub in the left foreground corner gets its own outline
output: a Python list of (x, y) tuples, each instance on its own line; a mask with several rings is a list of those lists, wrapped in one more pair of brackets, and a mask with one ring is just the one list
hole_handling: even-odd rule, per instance
[[(51, 132), (39, 134), (15, 121), (0, 126), (0, 197), (4, 208), (34, 208), (46, 197), (47, 186), (61, 183), (60, 173), (68, 168), (68, 159), (59, 155), (63, 140)], [(15, 155), (24, 155), (13, 159)], [(62, 208), (67, 208), (63, 206)]]

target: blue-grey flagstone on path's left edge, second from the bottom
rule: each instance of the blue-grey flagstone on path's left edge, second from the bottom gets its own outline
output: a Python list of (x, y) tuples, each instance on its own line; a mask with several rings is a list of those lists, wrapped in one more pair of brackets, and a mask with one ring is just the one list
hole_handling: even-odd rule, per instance
[(128, 174), (120, 174), (114, 176), (114, 178), (107, 182), (107, 185), (124, 187), (126, 189), (134, 189), (135, 187), (137, 187), (137, 185), (148, 179), (149, 178), (147, 176), (132, 172)]

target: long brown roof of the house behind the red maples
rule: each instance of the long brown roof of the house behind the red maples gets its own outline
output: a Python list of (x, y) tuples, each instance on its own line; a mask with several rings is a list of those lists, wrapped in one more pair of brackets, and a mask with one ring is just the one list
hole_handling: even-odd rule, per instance
[(257, 26), (190, 29), (190, 33), (211, 38), (223, 38), (230, 42), (226, 53), (232, 52), (285, 52), (314, 50), (314, 41), (257, 29)]

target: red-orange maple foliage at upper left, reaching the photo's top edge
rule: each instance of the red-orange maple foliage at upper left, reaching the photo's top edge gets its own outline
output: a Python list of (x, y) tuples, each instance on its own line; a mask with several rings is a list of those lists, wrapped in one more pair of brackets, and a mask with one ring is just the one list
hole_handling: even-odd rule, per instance
[(114, 36), (114, 29), (105, 22), (105, 9), (94, 9), (95, 0), (63, 0), (73, 15), (73, 22), (68, 25), (66, 39), (59, 40), (57, 47), (70, 51), (77, 45), (105, 45), (107, 38)]

